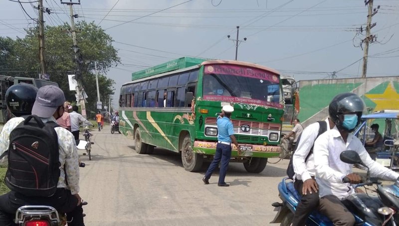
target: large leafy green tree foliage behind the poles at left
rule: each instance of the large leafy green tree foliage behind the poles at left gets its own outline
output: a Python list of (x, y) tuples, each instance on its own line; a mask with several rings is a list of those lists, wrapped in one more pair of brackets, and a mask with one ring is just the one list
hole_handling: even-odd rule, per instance
[[(76, 100), (75, 91), (69, 91), (68, 74), (75, 74), (77, 68), (72, 50), (72, 34), (69, 24), (46, 26), (45, 28), (45, 59), (47, 73), (51, 81), (57, 82), (64, 91), (65, 98)], [(112, 38), (94, 22), (80, 21), (76, 24), (76, 40), (83, 55), (81, 67), (83, 86), (88, 95), (86, 111), (96, 111), (97, 89), (94, 74), (94, 62), (100, 73), (98, 83), (100, 99), (107, 104), (110, 95), (114, 94), (112, 79), (105, 77), (110, 67), (120, 62), (117, 50), (112, 46)], [(0, 74), (7, 76), (22, 76), (37, 78), (40, 73), (38, 30), (26, 30), (24, 38), (13, 40), (0, 37)]]

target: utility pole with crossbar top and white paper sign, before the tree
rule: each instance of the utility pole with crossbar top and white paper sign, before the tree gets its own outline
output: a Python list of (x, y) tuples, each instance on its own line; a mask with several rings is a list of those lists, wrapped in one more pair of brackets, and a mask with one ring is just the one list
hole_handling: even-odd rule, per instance
[(76, 62), (75, 79), (78, 83), (78, 87), (76, 89), (76, 94), (77, 94), (77, 97), (79, 100), (80, 109), (82, 111), (82, 116), (86, 118), (87, 117), (86, 116), (86, 105), (85, 105), (84, 89), (83, 89), (83, 84), (82, 84), (82, 71), (81, 71), (83, 60), (82, 60), (82, 54), (80, 53), (80, 49), (79, 49), (79, 47), (77, 45), (77, 41), (76, 41), (76, 29), (75, 29), (75, 21), (74, 21), (74, 18), (77, 18), (78, 15), (73, 14), (73, 5), (80, 4), (80, 0), (78, 0), (78, 2), (72, 2), (72, 0), (69, 0), (69, 2), (62, 2), (62, 0), (61, 0), (61, 4), (69, 5), (69, 11), (70, 11), (70, 16), (71, 16), (72, 40), (73, 40), (72, 49), (75, 52), (74, 61)]

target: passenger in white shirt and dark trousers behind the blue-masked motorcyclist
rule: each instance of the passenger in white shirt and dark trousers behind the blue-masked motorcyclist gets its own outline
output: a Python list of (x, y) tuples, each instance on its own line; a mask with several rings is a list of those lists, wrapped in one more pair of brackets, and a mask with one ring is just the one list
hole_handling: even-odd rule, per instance
[[(331, 118), (327, 118), (327, 131), (334, 128), (335, 123)], [(308, 125), (301, 134), (301, 139), (296, 144), (297, 148), (292, 157), (294, 167), (294, 187), (302, 199), (299, 202), (294, 217), (293, 226), (305, 226), (306, 220), (314, 209), (319, 206), (318, 185), (315, 180), (315, 166), (313, 153), (309, 152), (319, 133), (320, 124), (318, 122)], [(309, 156), (308, 156), (309, 155)]]

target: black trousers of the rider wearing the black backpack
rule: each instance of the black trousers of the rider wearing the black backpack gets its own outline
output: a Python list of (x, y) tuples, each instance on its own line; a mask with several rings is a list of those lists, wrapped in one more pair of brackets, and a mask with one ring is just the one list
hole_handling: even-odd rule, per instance
[(21, 206), (51, 206), (59, 213), (66, 213), (68, 226), (84, 226), (82, 205), (71, 191), (58, 188), (51, 197), (26, 197), (20, 193), (8, 192), (0, 196), (0, 226), (15, 226), (13, 219)]

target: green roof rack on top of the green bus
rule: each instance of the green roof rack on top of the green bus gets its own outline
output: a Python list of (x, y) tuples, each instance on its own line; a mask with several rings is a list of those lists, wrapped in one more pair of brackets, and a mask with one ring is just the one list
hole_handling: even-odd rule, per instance
[(197, 64), (200, 64), (208, 59), (204, 58), (194, 58), (194, 57), (181, 57), (176, 60), (171, 60), (163, 64), (153, 66), (141, 71), (132, 73), (132, 81), (147, 78), (153, 75), (158, 75), (165, 72), (175, 71), (179, 69), (184, 69)]

